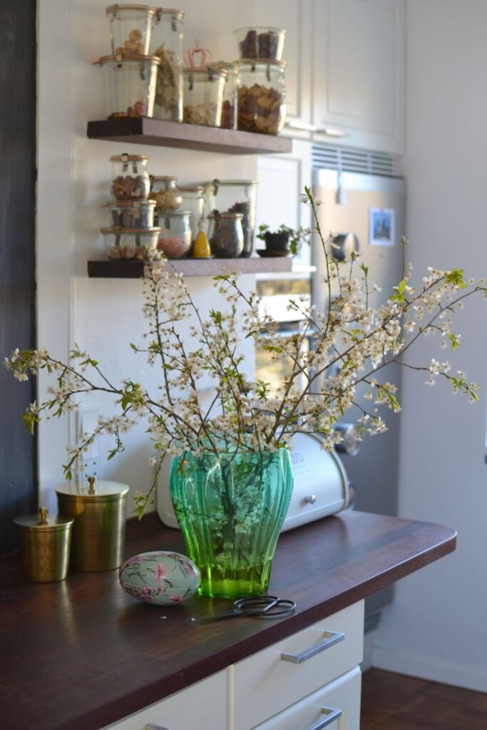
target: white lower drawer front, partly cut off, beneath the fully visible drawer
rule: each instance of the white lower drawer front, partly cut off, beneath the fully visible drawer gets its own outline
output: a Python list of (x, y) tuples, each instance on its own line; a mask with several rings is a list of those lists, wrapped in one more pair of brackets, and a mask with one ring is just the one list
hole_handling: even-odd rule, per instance
[(361, 674), (356, 666), (255, 730), (359, 730)]

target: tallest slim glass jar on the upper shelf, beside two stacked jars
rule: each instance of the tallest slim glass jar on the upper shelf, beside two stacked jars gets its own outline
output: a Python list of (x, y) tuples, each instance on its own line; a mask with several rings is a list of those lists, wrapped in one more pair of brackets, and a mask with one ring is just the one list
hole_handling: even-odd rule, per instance
[(183, 10), (158, 8), (150, 44), (157, 69), (154, 118), (183, 121)]

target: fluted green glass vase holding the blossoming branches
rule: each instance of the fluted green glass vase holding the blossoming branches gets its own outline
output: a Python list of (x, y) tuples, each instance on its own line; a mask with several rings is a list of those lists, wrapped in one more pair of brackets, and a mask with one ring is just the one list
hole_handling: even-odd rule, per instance
[(293, 490), (286, 448), (185, 452), (172, 461), (172, 504), (203, 596), (264, 593)]

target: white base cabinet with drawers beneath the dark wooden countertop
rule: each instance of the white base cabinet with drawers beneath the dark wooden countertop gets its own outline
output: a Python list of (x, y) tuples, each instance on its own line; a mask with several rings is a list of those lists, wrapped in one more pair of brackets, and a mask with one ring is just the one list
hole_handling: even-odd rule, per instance
[(104, 730), (358, 730), (363, 637), (361, 601)]

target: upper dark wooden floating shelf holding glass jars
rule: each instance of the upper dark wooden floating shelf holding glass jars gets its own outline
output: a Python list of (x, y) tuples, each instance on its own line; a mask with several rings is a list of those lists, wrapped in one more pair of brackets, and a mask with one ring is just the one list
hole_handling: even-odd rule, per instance
[(113, 142), (130, 142), (132, 145), (180, 147), (185, 150), (204, 150), (233, 155), (291, 152), (293, 148), (292, 140), (288, 137), (164, 122), (146, 117), (88, 122), (88, 137), (109, 139)]

